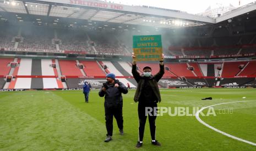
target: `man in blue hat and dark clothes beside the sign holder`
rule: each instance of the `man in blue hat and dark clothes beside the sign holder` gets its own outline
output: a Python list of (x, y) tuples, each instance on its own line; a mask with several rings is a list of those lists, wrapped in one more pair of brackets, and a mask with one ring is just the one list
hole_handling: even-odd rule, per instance
[(105, 120), (107, 128), (107, 138), (105, 142), (112, 140), (113, 133), (113, 117), (117, 120), (120, 135), (123, 135), (123, 94), (128, 93), (128, 89), (123, 83), (116, 79), (115, 74), (108, 73), (106, 75), (107, 82), (103, 84), (99, 96), (105, 96)]

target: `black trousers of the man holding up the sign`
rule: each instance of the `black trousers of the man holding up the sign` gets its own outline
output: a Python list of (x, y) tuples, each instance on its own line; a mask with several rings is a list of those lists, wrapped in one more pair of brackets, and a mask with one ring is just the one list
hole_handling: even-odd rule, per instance
[[(150, 134), (151, 140), (155, 140), (155, 133), (156, 133), (156, 114), (154, 114), (154, 108), (157, 107), (155, 102), (152, 103), (140, 103), (138, 104), (138, 115), (139, 115), (139, 141), (143, 141), (144, 136), (144, 129), (146, 124), (146, 117), (149, 117), (149, 127), (150, 127)], [(151, 112), (150, 109), (151, 108)], [(146, 114), (148, 113), (148, 114)]]

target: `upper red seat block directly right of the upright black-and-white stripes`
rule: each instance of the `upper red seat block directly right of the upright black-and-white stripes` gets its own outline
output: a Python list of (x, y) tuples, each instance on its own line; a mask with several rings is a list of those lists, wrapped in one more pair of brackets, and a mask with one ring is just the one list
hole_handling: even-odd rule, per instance
[(77, 68), (75, 60), (59, 60), (59, 67), (61, 68), (62, 75), (78, 75), (83, 76), (80, 69)]

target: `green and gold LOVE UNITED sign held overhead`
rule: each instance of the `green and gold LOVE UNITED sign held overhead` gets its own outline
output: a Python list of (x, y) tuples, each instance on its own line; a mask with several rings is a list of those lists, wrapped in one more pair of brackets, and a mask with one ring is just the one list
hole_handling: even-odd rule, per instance
[(133, 36), (134, 61), (160, 61), (162, 57), (161, 35)]

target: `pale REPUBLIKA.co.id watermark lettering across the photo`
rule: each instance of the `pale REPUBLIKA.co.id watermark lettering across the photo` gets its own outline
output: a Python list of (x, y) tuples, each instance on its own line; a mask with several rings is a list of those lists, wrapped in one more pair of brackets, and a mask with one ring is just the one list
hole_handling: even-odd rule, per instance
[[(203, 107), (201, 107), (203, 108)], [(171, 117), (192, 117), (200, 111), (200, 107), (145, 107), (145, 115), (149, 116), (164, 116), (169, 115)], [(233, 108), (222, 108), (222, 109), (214, 109), (213, 107), (209, 107), (205, 109), (206, 112), (200, 112), (201, 116), (216, 116), (217, 114), (233, 114)]]

